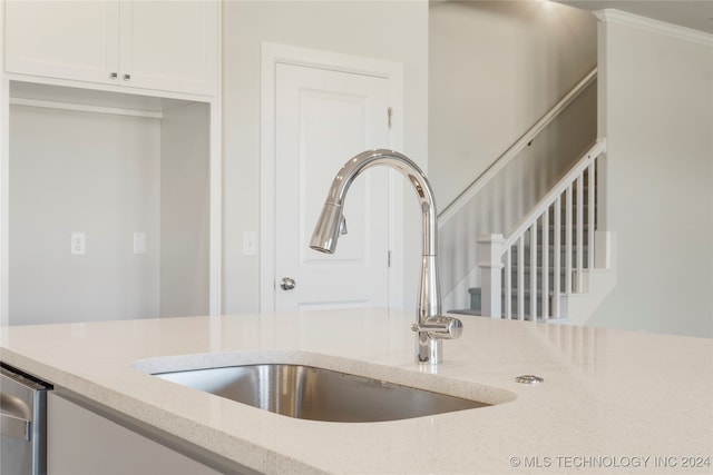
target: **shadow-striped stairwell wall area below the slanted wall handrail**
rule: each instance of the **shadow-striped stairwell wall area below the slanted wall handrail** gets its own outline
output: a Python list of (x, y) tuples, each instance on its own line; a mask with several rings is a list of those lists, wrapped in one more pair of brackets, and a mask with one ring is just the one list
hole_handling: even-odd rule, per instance
[(445, 308), (469, 308), (468, 288), (480, 286), (478, 237), (508, 231), (594, 144), (596, 90), (596, 82), (589, 85), (529, 147), (441, 224)]

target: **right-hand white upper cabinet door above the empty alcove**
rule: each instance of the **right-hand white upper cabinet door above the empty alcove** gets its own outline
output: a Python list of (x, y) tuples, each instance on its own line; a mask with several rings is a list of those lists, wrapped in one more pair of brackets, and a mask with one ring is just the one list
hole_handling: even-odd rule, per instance
[(120, 3), (120, 83), (215, 95), (218, 2)]

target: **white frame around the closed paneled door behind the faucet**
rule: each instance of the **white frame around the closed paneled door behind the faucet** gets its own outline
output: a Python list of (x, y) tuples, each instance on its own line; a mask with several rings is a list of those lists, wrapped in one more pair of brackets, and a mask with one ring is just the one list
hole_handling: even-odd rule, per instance
[[(275, 310), (276, 289), (276, 239), (275, 239), (275, 172), (276, 172), (276, 65), (303, 66), (375, 76), (389, 81), (389, 98), (392, 108), (392, 127), (389, 130), (389, 147), (394, 150), (403, 146), (403, 66), (400, 62), (385, 61), (342, 55), (332, 51), (300, 48), (289, 44), (262, 43), (261, 69), (261, 133), (260, 133), (260, 311)], [(384, 111), (385, 113), (385, 111)], [(385, 117), (384, 117), (385, 120)], [(351, 157), (344, 157), (346, 161)], [(394, 179), (395, 178), (395, 179)], [(403, 227), (401, 212), (403, 205), (403, 185), (400, 176), (392, 171), (389, 177), (389, 249), (402, 249)], [(324, 192), (326, 194), (326, 189)], [(389, 303), (403, 300), (403, 265), (401, 253), (392, 253), (389, 269)]]

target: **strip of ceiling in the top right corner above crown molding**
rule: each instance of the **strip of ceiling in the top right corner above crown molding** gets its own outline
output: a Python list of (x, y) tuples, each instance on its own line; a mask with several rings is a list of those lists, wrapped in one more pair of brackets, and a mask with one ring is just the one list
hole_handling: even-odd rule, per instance
[(713, 34), (713, 0), (555, 0), (584, 10), (613, 8)]

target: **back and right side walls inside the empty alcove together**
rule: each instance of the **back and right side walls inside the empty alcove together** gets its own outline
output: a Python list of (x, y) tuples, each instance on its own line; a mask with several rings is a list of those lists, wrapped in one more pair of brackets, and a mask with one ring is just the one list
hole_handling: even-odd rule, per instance
[(208, 313), (208, 105), (162, 115), (11, 106), (10, 324)]

